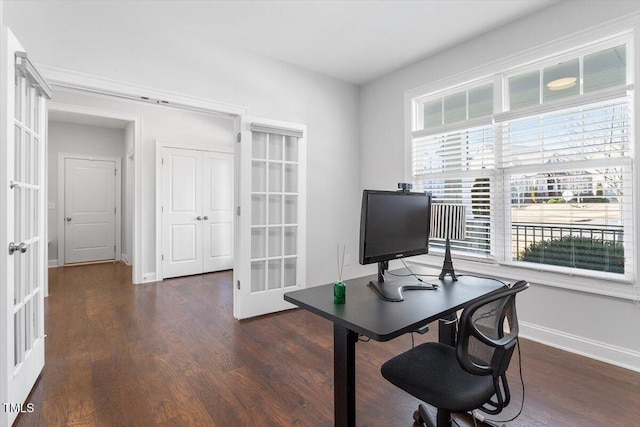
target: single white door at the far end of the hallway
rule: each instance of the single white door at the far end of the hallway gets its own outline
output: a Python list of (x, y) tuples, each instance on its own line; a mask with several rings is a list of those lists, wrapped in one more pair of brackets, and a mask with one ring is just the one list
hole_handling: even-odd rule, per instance
[(65, 159), (65, 263), (116, 258), (115, 161)]

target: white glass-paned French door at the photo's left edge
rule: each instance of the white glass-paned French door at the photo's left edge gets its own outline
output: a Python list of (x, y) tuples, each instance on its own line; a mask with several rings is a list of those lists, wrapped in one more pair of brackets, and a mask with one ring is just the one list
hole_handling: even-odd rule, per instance
[(0, 426), (44, 367), (46, 82), (2, 27), (0, 58)]

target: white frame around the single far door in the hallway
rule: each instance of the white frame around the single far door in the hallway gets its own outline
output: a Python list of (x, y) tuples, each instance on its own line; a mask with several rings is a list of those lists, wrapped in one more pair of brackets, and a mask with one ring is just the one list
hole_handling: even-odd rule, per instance
[(115, 191), (115, 233), (116, 250), (114, 259), (119, 261), (122, 258), (122, 160), (120, 157), (91, 156), (87, 154), (58, 153), (58, 267), (65, 264), (65, 191), (66, 191), (66, 168), (67, 159), (77, 160), (100, 160), (114, 162), (116, 164), (116, 191)]

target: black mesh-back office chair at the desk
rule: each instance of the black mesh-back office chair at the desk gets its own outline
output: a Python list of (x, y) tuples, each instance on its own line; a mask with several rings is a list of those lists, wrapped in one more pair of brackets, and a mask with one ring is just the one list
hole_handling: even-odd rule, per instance
[[(516, 294), (528, 287), (519, 281), (483, 296), (462, 311), (455, 347), (421, 344), (388, 360), (382, 376), (439, 409), (498, 414), (510, 399), (506, 371), (518, 338)], [(436, 427), (425, 405), (413, 418)]]

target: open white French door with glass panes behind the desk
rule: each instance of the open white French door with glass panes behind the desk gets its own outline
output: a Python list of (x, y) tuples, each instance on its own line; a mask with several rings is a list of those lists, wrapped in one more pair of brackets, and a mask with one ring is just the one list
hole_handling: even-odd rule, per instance
[(234, 316), (294, 308), (284, 293), (306, 280), (306, 127), (249, 118), (242, 124)]

